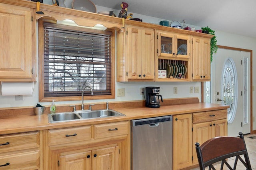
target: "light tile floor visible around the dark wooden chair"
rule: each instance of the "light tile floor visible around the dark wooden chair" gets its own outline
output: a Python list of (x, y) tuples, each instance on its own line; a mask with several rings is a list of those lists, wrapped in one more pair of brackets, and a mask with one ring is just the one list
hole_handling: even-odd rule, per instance
[[(247, 148), (247, 152), (249, 154), (249, 159), (250, 159), (250, 163), (252, 166), (252, 170), (256, 170), (256, 138), (252, 139), (252, 138), (248, 138), (250, 136), (256, 136), (256, 134), (248, 134), (248, 135), (244, 135), (244, 140), (246, 143), (246, 148)], [(229, 161), (234, 161), (234, 159), (231, 159)], [(216, 168), (220, 168), (220, 166), (216, 166)], [(208, 170), (208, 168), (206, 168)], [(199, 168), (194, 168), (191, 170), (200, 170)], [(228, 170), (228, 168), (225, 167), (223, 168), (223, 170)], [(237, 170), (246, 170), (246, 168), (244, 166), (237, 166)]]

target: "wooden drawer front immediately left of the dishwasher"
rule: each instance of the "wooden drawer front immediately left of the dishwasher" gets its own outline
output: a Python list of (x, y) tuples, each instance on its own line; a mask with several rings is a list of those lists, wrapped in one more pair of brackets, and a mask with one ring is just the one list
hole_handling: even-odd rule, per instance
[(128, 122), (94, 125), (94, 139), (128, 134)]

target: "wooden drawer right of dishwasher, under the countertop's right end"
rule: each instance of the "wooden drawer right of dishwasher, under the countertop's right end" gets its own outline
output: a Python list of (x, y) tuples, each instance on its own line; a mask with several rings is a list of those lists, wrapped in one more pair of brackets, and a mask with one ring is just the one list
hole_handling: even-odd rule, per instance
[(193, 113), (193, 123), (208, 122), (212, 120), (226, 119), (227, 110), (214, 110), (208, 112)]

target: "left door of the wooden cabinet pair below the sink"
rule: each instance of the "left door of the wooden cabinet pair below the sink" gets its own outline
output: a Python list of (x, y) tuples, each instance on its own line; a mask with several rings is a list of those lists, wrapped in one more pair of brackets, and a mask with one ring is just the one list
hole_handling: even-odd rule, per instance
[(60, 170), (91, 170), (91, 151), (60, 156)]

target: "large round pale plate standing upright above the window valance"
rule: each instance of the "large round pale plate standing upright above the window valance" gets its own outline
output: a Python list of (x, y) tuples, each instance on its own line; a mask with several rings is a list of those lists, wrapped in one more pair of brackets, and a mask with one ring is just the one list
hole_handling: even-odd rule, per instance
[(96, 13), (96, 6), (90, 0), (73, 0), (72, 8), (76, 10)]

